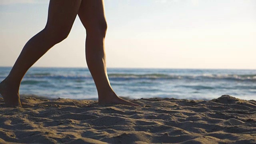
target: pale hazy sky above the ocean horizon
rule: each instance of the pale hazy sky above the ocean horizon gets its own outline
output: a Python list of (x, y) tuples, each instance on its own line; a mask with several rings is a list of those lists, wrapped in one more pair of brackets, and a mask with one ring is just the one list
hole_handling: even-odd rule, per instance
[[(0, 1), (0, 66), (46, 24), (49, 0)], [(256, 0), (105, 0), (108, 68), (256, 69)], [(77, 17), (36, 67), (87, 67)]]

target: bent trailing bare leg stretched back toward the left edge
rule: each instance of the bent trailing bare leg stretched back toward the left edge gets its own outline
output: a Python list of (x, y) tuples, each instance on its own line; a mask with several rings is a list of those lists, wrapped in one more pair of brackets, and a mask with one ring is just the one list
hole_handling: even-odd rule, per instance
[(80, 4), (81, 0), (50, 0), (46, 27), (26, 43), (10, 74), (0, 83), (0, 94), (6, 106), (21, 106), (19, 87), (22, 78), (52, 46), (68, 36)]

